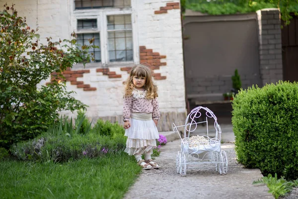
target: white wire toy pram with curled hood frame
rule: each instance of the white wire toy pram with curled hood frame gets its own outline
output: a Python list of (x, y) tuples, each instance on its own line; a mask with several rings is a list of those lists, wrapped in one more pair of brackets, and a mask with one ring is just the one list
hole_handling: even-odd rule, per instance
[[(197, 122), (202, 118), (204, 121)], [(214, 137), (209, 135), (208, 119), (214, 120)], [(197, 129), (198, 124), (204, 123), (206, 123), (207, 128), (206, 135), (190, 137), (190, 133)], [(217, 117), (209, 108), (202, 106), (194, 108), (187, 115), (185, 125), (176, 126), (173, 123), (172, 127), (173, 131), (177, 132), (181, 139), (181, 151), (178, 151), (176, 159), (177, 173), (180, 176), (185, 176), (187, 169), (199, 168), (202, 164), (214, 167), (220, 174), (226, 174), (227, 157), (226, 153), (221, 149), (222, 130), (217, 122)], [(179, 128), (184, 128), (183, 138), (180, 135)]]

